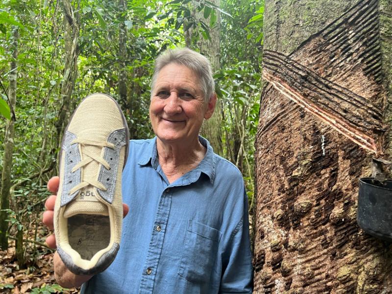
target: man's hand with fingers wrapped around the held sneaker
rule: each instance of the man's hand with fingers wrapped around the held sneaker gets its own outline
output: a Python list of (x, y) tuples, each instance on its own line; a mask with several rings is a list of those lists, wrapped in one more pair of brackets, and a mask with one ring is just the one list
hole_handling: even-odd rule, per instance
[[(48, 181), (48, 190), (49, 192), (55, 194), (57, 193), (60, 179), (58, 176), (52, 177)], [(42, 222), (49, 228), (49, 230), (53, 230), (53, 216), (54, 216), (54, 204), (56, 202), (56, 195), (51, 195), (45, 202), (45, 208), (47, 209), (43, 216)], [(128, 214), (129, 207), (126, 204), (123, 204), (123, 217)], [(56, 248), (56, 238), (54, 234), (49, 235), (46, 238), (46, 243), (50, 248)], [(53, 256), (53, 265), (54, 265), (54, 277), (56, 278), (57, 283), (65, 288), (79, 287), (84, 282), (87, 282), (92, 276), (91, 275), (75, 275), (67, 267), (64, 265), (60, 256), (57, 252), (54, 253)]]

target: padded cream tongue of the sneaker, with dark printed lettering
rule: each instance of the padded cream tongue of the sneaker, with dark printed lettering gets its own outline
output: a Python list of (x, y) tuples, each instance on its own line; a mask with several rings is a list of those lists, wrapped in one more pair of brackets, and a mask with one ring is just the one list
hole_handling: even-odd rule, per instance
[(63, 217), (70, 218), (78, 214), (108, 216), (107, 206), (97, 199), (96, 193), (96, 189), (90, 186), (80, 189), (78, 195), (67, 204)]

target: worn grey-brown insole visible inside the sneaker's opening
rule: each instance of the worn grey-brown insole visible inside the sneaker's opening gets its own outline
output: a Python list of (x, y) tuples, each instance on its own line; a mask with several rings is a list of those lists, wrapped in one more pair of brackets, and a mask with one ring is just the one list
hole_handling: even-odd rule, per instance
[(90, 260), (110, 243), (109, 217), (79, 214), (68, 218), (68, 242), (81, 258)]

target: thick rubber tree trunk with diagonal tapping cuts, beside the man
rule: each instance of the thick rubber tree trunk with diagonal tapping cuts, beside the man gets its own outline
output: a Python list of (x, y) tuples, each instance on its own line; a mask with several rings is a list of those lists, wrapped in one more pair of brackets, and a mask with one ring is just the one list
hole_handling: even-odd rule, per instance
[(359, 178), (391, 155), (391, 10), (265, 1), (255, 293), (392, 293), (392, 245), (356, 223)]

